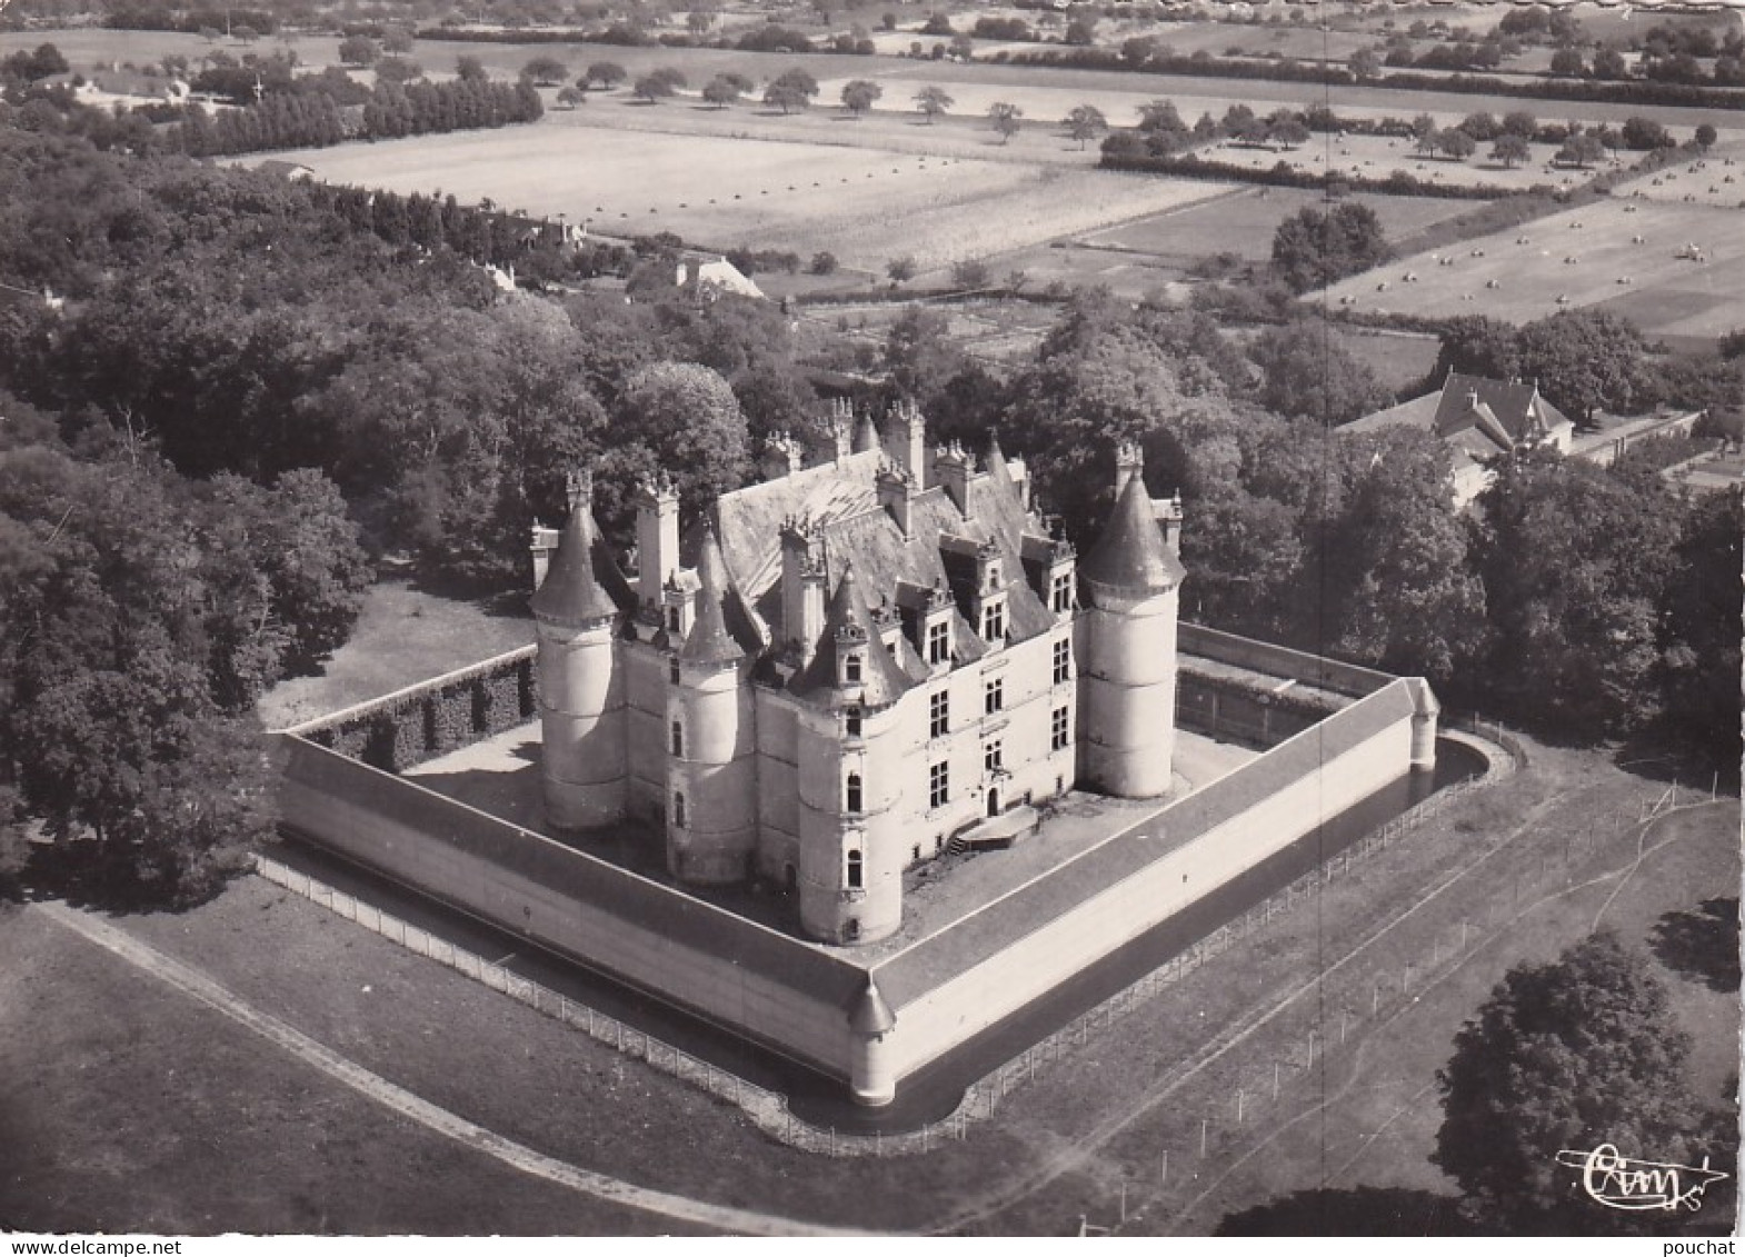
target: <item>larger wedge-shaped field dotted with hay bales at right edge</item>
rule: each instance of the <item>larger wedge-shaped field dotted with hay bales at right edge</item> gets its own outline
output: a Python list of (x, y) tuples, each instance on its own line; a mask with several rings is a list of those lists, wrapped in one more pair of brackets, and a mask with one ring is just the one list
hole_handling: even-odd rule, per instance
[[(1691, 244), (1705, 262), (1684, 257)], [(1326, 297), (1368, 313), (1511, 323), (1598, 307), (1651, 337), (1715, 337), (1742, 321), (1740, 292), (1745, 211), (1623, 197), (1391, 262)]]

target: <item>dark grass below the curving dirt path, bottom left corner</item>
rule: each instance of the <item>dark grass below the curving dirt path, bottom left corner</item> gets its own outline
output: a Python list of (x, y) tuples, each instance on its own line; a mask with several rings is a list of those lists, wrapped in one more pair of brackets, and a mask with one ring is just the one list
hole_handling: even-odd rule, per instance
[[(251, 953), (272, 938), (276, 911), (257, 896), (230, 918), (229, 939), (206, 943)], [(185, 929), (174, 917), (159, 925)], [(312, 918), (305, 927), (325, 932)], [(10, 1082), (0, 1100), (0, 1219), (7, 1227), (147, 1234), (672, 1229), (393, 1116), (40, 913), (0, 904), (0, 951), (7, 957), (0, 965), (0, 1074)]]

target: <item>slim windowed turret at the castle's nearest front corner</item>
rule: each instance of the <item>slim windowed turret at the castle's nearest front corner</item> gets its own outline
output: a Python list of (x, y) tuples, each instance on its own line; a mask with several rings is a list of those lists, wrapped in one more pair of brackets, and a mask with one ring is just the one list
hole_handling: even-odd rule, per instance
[(902, 744), (909, 677), (885, 649), (843, 569), (817, 653), (790, 683), (799, 705), (799, 920), (825, 943), (871, 943), (902, 925)]

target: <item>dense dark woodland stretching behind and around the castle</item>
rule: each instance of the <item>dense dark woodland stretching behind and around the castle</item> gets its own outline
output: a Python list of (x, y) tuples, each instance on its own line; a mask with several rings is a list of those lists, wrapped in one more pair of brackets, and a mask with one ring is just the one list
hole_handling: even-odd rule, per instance
[[(665, 468), (696, 512), (775, 433), (817, 438), (806, 368), (853, 360), (766, 302), (506, 295), (476, 229), (450, 243), (436, 201), (417, 218), (0, 129), (0, 864), (33, 819), (86, 885), (204, 892), (270, 824), (251, 704), (344, 641), (366, 555), (517, 588), (565, 470), (595, 470), (626, 543), (639, 477)], [(1680, 361), (1595, 316), (1468, 319), (1438, 377), (1530, 372), (1579, 416), (1736, 400), (1736, 347)], [(1389, 398), (1314, 319), (1239, 332), (1087, 295), (996, 374), (911, 309), (876, 365), (864, 403), (902, 391), (942, 440), (998, 436), (1080, 541), (1115, 442), (1141, 442), (1152, 491), (1185, 499), (1190, 618), (1422, 672), (1553, 735), (1736, 761), (1736, 494), (1536, 457), (1455, 515), (1434, 442), (1337, 429)]]

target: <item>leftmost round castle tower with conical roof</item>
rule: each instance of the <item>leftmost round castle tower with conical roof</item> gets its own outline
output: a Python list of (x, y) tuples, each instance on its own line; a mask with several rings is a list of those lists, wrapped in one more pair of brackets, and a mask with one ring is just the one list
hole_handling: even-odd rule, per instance
[(616, 639), (630, 588), (593, 522), (586, 475), (569, 478), (569, 520), (534, 590), (539, 639), (539, 779), (558, 829), (625, 814), (625, 688)]

